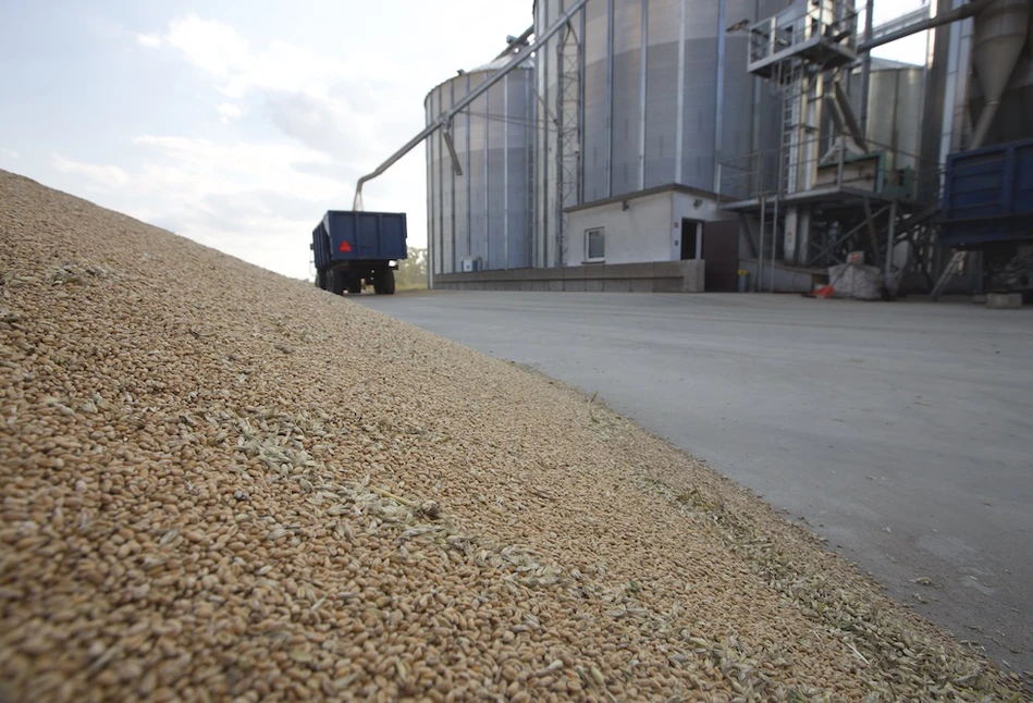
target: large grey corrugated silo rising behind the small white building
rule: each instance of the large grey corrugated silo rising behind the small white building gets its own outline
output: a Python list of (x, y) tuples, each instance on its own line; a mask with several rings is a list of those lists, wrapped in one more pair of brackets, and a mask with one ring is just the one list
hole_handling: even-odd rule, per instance
[[(536, 28), (551, 26), (568, 4), (537, 0)], [(589, 0), (573, 21), (581, 38), (577, 201), (671, 183), (713, 192), (717, 163), (745, 162), (753, 151), (777, 149), (778, 102), (770, 86), (747, 73), (748, 35), (726, 28), (785, 5), (785, 0)], [(534, 163), (536, 266), (556, 264), (554, 121), (562, 35), (536, 53), (542, 97)]]

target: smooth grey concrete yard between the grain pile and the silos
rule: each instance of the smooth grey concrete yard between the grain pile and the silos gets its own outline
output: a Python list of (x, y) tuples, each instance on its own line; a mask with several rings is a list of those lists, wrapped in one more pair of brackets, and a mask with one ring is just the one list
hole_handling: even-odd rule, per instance
[(1033, 670), (1033, 309), (735, 294), (357, 300), (598, 392), (958, 640)]

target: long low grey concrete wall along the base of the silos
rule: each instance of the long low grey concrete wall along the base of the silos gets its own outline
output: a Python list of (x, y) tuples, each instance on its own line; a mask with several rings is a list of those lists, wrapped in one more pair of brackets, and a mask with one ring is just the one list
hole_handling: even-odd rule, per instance
[(434, 288), (464, 291), (569, 291), (702, 293), (705, 262), (599, 263), (562, 269), (512, 269), (434, 276)]

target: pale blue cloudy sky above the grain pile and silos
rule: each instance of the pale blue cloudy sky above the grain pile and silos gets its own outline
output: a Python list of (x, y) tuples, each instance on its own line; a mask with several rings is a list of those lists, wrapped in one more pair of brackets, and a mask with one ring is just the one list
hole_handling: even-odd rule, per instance
[[(922, 0), (876, 0), (876, 23)], [(0, 169), (293, 278), (531, 0), (0, 0)], [(876, 55), (920, 60), (923, 36)], [(426, 246), (426, 151), (364, 188)]]

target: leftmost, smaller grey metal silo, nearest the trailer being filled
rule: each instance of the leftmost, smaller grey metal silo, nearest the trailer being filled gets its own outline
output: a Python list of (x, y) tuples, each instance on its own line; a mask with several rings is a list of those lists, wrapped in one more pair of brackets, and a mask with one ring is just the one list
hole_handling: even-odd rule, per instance
[[(427, 123), (511, 59), (496, 59), (432, 89), (423, 100)], [(467, 257), (479, 257), (485, 270), (529, 266), (533, 103), (528, 60), (456, 115), (451, 134), (462, 175), (455, 173), (443, 134), (428, 139), (427, 242), (434, 274), (462, 271)]]

